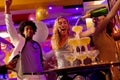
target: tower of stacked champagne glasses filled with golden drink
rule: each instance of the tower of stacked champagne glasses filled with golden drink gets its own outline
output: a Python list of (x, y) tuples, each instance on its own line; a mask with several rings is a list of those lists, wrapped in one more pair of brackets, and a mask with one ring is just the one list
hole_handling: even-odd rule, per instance
[[(73, 47), (73, 53), (72, 53), (72, 60), (70, 61), (73, 66), (73, 61), (76, 59), (79, 59), (81, 61), (80, 65), (85, 65), (84, 60), (86, 58), (90, 58), (92, 60), (92, 63), (95, 63), (95, 58), (98, 55), (97, 50), (90, 51), (88, 50), (88, 45), (90, 44), (90, 37), (80, 37), (80, 33), (82, 32), (83, 27), (82, 26), (73, 26), (72, 31), (74, 31), (75, 38), (70, 38), (68, 40), (68, 44)], [(85, 48), (85, 51), (81, 50), (81, 47)], [(76, 48), (79, 47), (80, 52), (76, 51)]]

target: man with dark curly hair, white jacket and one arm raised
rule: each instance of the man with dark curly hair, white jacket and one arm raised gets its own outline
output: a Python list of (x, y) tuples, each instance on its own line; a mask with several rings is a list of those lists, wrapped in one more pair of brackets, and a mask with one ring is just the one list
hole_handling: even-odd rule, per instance
[(24, 21), (20, 24), (18, 34), (10, 14), (11, 4), (12, 0), (5, 0), (5, 22), (15, 46), (9, 61), (15, 55), (21, 54), (15, 68), (18, 80), (46, 80), (44, 75), (40, 75), (43, 71), (41, 47), (32, 39), (37, 27), (33, 21)]

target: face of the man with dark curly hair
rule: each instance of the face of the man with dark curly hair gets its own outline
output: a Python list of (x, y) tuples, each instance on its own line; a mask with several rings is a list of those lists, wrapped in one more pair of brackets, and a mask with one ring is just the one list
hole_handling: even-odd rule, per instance
[(34, 31), (31, 26), (27, 25), (24, 27), (23, 34), (24, 34), (25, 38), (32, 39), (32, 37), (34, 35)]

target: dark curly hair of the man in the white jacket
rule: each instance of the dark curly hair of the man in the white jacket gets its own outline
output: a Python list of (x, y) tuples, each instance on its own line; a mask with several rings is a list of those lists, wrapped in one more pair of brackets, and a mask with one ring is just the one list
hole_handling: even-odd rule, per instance
[(36, 32), (36, 30), (37, 30), (37, 27), (36, 27), (35, 23), (34, 23), (33, 21), (28, 21), (28, 20), (27, 20), (27, 21), (22, 21), (22, 22), (20, 23), (19, 28), (18, 28), (19, 33), (20, 33), (22, 36), (24, 36), (23, 31), (24, 31), (25, 26), (28, 26), (28, 25), (32, 27), (32, 29), (33, 29), (33, 31), (34, 31), (34, 34), (35, 34), (35, 32)]

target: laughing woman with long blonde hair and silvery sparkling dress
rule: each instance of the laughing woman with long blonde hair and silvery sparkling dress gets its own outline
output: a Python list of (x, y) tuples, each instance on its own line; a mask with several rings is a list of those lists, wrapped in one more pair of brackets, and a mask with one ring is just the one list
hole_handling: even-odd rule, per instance
[(70, 66), (70, 63), (65, 60), (64, 52), (70, 52), (70, 46), (67, 44), (70, 25), (64, 17), (58, 17), (54, 23), (52, 35), (52, 48), (55, 51), (58, 68)]

